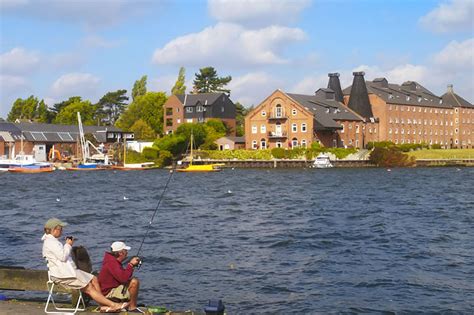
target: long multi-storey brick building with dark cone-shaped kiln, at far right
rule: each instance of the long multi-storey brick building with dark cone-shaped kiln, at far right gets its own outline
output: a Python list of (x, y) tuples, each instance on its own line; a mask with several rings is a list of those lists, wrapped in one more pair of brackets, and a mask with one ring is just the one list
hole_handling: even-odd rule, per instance
[(373, 139), (369, 141), (473, 147), (474, 106), (455, 94), (452, 86), (439, 97), (418, 82), (398, 85), (386, 78), (365, 81), (364, 72), (353, 75), (353, 84), (343, 91), (344, 103), (366, 124), (377, 124), (377, 136), (373, 126), (365, 126), (365, 138)]

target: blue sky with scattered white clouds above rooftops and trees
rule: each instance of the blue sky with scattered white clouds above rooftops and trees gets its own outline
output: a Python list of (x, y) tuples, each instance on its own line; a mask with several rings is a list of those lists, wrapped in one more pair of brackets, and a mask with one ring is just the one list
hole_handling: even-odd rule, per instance
[(0, 117), (17, 98), (49, 106), (170, 93), (179, 68), (187, 91), (212, 66), (232, 76), (231, 99), (258, 105), (274, 90), (313, 94), (339, 72), (366, 80), (448, 84), (474, 101), (472, 0), (0, 0)]

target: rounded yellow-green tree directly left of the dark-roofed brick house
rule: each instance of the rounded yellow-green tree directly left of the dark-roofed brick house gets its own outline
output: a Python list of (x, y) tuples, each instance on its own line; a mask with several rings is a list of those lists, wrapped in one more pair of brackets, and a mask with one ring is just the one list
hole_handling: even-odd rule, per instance
[(167, 97), (164, 92), (148, 92), (138, 96), (128, 105), (116, 122), (116, 126), (130, 130), (133, 124), (142, 119), (156, 134), (163, 134), (163, 104)]

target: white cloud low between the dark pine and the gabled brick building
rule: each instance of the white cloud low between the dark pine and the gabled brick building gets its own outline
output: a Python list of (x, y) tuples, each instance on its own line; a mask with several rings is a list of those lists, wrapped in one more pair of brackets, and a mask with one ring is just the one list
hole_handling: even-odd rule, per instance
[(249, 107), (260, 104), (283, 82), (265, 72), (251, 72), (232, 78), (228, 84), (231, 99)]

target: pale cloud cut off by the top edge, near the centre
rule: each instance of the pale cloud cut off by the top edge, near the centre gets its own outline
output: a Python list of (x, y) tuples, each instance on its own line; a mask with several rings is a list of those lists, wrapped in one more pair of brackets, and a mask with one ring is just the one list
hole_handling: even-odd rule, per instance
[(287, 25), (310, 0), (209, 0), (209, 13), (220, 22), (246, 26)]

